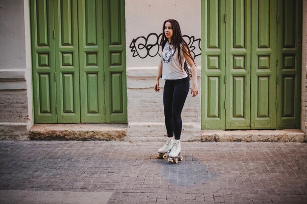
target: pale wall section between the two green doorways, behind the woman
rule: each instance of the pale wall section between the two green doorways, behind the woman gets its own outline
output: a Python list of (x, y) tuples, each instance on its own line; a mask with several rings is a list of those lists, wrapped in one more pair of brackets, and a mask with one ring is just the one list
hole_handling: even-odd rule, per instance
[[(167, 19), (176, 19), (187, 43), (197, 48), (201, 38), (201, 0), (126, 0), (126, 43), (127, 43), (127, 87), (128, 87), (128, 137), (129, 140), (164, 139), (163, 86), (160, 79), (160, 92), (153, 86), (160, 56), (157, 38)], [(151, 36), (149, 36), (151, 33)], [(138, 38), (141, 37), (141, 38)], [(147, 44), (146, 44), (147, 40)], [(149, 50), (142, 44), (152, 44)], [(141, 47), (139, 46), (141, 45)], [(148, 55), (147, 55), (148, 54)], [(156, 54), (156, 55), (155, 55)], [(146, 56), (147, 55), (147, 56)], [(149, 55), (155, 55), (153, 57)], [(198, 84), (201, 91), (201, 55), (195, 58), (198, 66)], [(182, 111), (182, 140), (200, 138), (201, 135), (201, 97), (188, 95)]]

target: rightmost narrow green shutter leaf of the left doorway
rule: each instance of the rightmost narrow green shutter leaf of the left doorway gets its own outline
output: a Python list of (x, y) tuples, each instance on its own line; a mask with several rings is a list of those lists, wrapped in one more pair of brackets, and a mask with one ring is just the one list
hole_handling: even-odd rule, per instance
[(102, 0), (106, 122), (127, 122), (125, 1)]

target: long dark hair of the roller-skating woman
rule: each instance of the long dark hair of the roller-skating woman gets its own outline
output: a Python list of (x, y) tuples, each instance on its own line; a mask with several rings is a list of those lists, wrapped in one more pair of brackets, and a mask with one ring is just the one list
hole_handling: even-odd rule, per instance
[[(193, 63), (194, 65), (196, 66), (195, 64), (195, 61), (194, 61), (194, 58), (192, 57), (192, 54), (191, 54), (191, 51), (189, 49), (189, 45), (185, 42), (185, 40), (182, 38), (182, 34), (181, 34), (181, 30), (180, 30), (180, 25), (178, 23), (178, 21), (176, 21), (175, 19), (168, 19), (166, 20), (164, 23), (163, 23), (163, 28), (162, 28), (162, 38), (161, 38), (161, 42), (160, 42), (160, 45), (162, 45), (162, 43), (165, 41), (165, 40), (168, 40), (165, 36), (165, 32), (164, 32), (164, 27), (165, 27), (165, 23), (171, 23), (172, 24), (172, 28), (173, 28), (173, 37), (171, 39), (171, 43), (173, 44), (174, 46), (174, 54), (176, 52), (176, 49), (178, 48), (178, 59), (179, 59), (179, 65), (180, 67), (182, 67), (182, 61), (181, 61), (181, 57), (180, 57), (180, 52), (181, 52), (181, 46), (182, 45), (182, 52), (187, 54), (192, 60), (193, 60)], [(173, 55), (174, 55), (173, 54)], [(186, 61), (184, 61), (184, 64), (183, 64), (183, 68), (184, 68), (184, 71), (188, 74), (189, 78), (192, 76), (192, 73), (191, 73), (191, 70), (188, 68), (188, 65), (186, 63)]]

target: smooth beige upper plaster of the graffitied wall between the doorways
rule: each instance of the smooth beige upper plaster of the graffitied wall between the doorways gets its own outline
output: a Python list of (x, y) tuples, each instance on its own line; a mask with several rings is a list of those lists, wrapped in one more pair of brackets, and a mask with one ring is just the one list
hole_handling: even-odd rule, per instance
[[(201, 0), (125, 0), (127, 67), (156, 67), (159, 56), (132, 57), (129, 48), (133, 39), (147, 37), (150, 33), (162, 33), (163, 22), (176, 19), (182, 35), (201, 38)], [(188, 7), (187, 7), (188, 6)], [(150, 39), (150, 43), (155, 42)], [(140, 40), (140, 42), (143, 42)], [(144, 50), (138, 49), (141, 55)], [(196, 57), (196, 64), (201, 65), (201, 57)]]

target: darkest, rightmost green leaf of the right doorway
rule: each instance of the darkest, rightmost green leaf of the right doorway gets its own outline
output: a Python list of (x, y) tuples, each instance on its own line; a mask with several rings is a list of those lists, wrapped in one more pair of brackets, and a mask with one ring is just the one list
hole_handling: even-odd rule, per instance
[(302, 0), (278, 4), (277, 129), (300, 128)]

